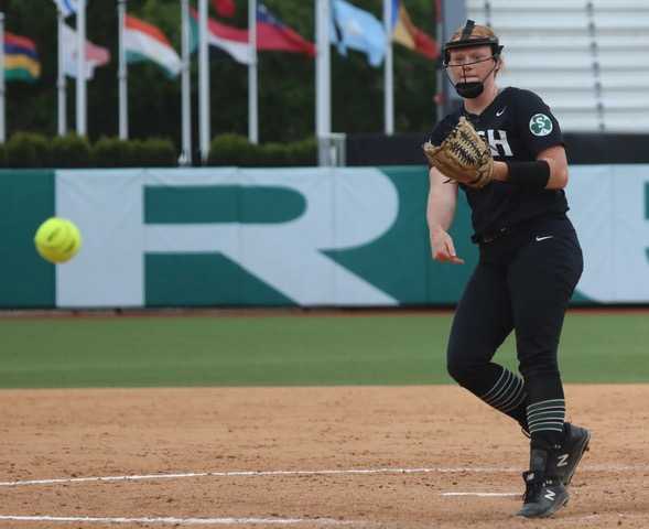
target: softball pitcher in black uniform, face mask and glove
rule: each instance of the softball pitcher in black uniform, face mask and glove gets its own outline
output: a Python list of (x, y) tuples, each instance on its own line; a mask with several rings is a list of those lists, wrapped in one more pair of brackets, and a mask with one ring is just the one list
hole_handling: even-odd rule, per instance
[[(424, 145), (431, 165), (426, 219), (433, 258), (464, 262), (448, 227), (458, 188), (466, 193), (479, 260), (455, 312), (447, 368), (529, 435), (518, 515), (536, 518), (567, 504), (591, 439), (586, 429), (565, 422), (558, 365), (583, 260), (566, 217), (569, 172), (559, 123), (534, 93), (496, 85), (501, 51), (494, 32), (472, 20), (444, 45), (444, 67), (463, 105)], [(493, 361), (511, 331), (520, 375)]]

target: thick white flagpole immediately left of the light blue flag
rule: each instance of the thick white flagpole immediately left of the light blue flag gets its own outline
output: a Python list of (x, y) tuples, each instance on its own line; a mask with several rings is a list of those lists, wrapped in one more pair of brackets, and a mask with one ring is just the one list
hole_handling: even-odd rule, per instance
[(320, 164), (328, 160), (323, 153), (332, 133), (332, 93), (331, 93), (331, 3), (329, 0), (316, 0), (315, 2), (315, 129), (318, 141)]

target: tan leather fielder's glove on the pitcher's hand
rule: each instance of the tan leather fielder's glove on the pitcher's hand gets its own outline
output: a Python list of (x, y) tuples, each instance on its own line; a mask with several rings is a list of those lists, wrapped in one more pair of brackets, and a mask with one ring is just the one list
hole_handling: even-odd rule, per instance
[(464, 116), (441, 145), (426, 141), (422, 148), (431, 165), (451, 181), (480, 188), (494, 177), (489, 145)]

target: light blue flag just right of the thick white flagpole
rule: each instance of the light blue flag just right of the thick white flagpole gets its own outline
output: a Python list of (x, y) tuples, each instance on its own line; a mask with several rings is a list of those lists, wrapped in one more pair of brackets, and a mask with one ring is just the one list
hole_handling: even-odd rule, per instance
[(333, 0), (332, 8), (331, 37), (338, 53), (346, 55), (350, 47), (366, 53), (371, 66), (380, 66), (386, 54), (383, 24), (374, 14), (345, 0)]

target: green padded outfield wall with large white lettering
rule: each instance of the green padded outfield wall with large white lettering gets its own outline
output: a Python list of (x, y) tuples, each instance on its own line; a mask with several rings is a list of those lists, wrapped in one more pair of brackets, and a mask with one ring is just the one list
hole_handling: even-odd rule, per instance
[[(4, 171), (0, 192), (2, 307), (446, 305), (477, 260), (462, 193), (466, 263), (431, 260), (421, 166)], [(567, 193), (573, 302), (649, 302), (649, 166), (574, 166)], [(54, 214), (84, 238), (57, 267), (33, 249)]]

